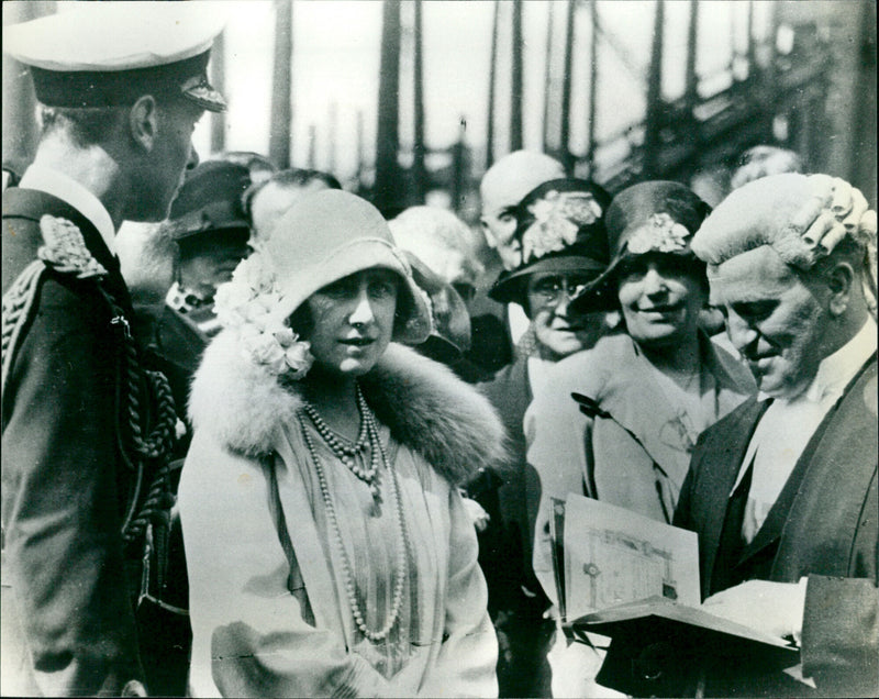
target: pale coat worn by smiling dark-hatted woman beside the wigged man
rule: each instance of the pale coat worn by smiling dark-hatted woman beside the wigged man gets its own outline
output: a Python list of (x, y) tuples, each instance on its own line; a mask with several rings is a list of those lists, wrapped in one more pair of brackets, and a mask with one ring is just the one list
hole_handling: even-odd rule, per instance
[[(756, 386), (747, 368), (708, 337), (701, 337), (701, 352), (703, 400), (713, 401), (720, 419)], [(592, 350), (556, 364), (525, 414), (527, 458), (541, 478), (534, 572), (553, 600), (552, 498), (576, 492), (665, 522), (674, 514), (692, 445), (674, 439), (678, 407), (656, 382), (657, 370), (638, 355), (626, 334), (602, 337)], [(571, 392), (591, 398), (604, 417), (585, 415)]]

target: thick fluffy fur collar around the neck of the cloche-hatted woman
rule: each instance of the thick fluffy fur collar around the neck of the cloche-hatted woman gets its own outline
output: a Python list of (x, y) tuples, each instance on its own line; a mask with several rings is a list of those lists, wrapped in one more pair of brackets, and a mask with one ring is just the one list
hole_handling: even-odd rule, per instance
[[(452, 482), (504, 461), (503, 426), (491, 403), (442, 364), (392, 343), (360, 386), (394, 439)], [(298, 391), (251, 364), (234, 334), (223, 331), (192, 380), (189, 415), (197, 431), (257, 456), (274, 450), (281, 421), (301, 406)]]

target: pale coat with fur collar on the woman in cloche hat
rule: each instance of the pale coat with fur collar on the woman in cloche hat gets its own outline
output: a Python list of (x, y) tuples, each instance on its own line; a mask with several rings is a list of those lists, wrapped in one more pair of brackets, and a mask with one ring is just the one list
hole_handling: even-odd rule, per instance
[(430, 637), (390, 679), (355, 648), (294, 419), (302, 399), (222, 333), (193, 381), (194, 437), (179, 489), (197, 696), (497, 696), (476, 534), (455, 484), (502, 457), (500, 422), (474, 389), (399, 345), (360, 384), (400, 445), (408, 517), (433, 543), (436, 574), (419, 615)]

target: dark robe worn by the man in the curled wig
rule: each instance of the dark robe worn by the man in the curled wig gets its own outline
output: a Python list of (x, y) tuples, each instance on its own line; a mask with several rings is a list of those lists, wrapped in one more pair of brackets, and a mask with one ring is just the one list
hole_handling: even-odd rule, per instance
[(879, 696), (876, 398), (874, 355), (819, 425), (738, 561), (717, 557), (719, 540), (730, 491), (765, 409), (756, 400), (702, 435), (675, 517), (675, 524), (699, 534), (703, 597), (723, 589), (721, 574), (726, 587), (809, 576), (801, 657), (821, 694)]

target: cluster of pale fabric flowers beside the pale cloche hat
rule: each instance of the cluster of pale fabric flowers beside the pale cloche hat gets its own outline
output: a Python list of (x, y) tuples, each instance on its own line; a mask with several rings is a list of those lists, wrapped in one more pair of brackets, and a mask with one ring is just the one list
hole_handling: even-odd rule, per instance
[(214, 312), (224, 328), (237, 331), (245, 358), (275, 376), (300, 379), (314, 363), (311, 344), (285, 324), (280, 302), (271, 268), (254, 253), (216, 289)]

